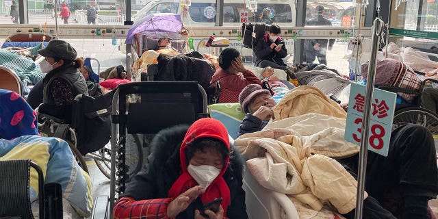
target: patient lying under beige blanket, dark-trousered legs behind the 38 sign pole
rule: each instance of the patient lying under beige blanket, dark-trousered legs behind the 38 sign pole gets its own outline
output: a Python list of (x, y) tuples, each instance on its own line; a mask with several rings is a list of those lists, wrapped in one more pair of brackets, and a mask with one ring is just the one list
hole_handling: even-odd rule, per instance
[[(240, 126), (245, 134), (235, 140), (255, 179), (289, 195), (300, 218), (323, 212), (334, 218), (331, 211), (354, 218), (359, 146), (344, 140), (346, 112), (311, 86), (289, 91), (274, 107), (250, 94), (240, 97), (243, 110), (258, 104), (266, 108), (259, 120), (272, 118), (257, 125), (247, 114)], [(363, 218), (429, 218), (428, 200), (438, 193), (434, 151), (430, 132), (418, 125), (393, 131), (388, 157), (370, 151)], [(418, 175), (419, 169), (427, 173)]]

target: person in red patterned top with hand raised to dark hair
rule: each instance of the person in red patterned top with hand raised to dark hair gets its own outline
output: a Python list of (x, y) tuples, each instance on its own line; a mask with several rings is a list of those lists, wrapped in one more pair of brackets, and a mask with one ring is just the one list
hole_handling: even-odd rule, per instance
[(219, 103), (237, 103), (240, 92), (248, 85), (261, 81), (250, 70), (244, 67), (239, 51), (234, 48), (227, 48), (220, 53), (218, 58), (219, 66), (211, 77), (210, 84), (217, 86), (219, 81), (222, 91), (219, 96)]

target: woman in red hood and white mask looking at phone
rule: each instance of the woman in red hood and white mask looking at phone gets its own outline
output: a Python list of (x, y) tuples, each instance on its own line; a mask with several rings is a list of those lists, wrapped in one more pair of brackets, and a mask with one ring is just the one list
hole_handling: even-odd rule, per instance
[(114, 218), (248, 218), (242, 170), (219, 120), (163, 129), (151, 142), (149, 168), (127, 185)]

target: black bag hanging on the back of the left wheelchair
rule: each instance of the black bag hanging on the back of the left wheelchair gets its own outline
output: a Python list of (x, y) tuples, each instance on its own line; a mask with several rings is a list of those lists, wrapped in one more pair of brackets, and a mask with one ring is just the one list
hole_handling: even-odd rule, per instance
[(114, 92), (101, 96), (83, 95), (73, 103), (71, 126), (75, 129), (81, 155), (99, 151), (111, 139), (111, 112)]

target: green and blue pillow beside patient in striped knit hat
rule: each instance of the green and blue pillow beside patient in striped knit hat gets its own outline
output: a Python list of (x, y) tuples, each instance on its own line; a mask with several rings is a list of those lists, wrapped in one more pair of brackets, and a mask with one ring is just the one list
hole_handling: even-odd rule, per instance
[(240, 123), (246, 115), (240, 103), (216, 103), (208, 107), (210, 117), (220, 120), (227, 128), (228, 134), (233, 139), (237, 138)]

